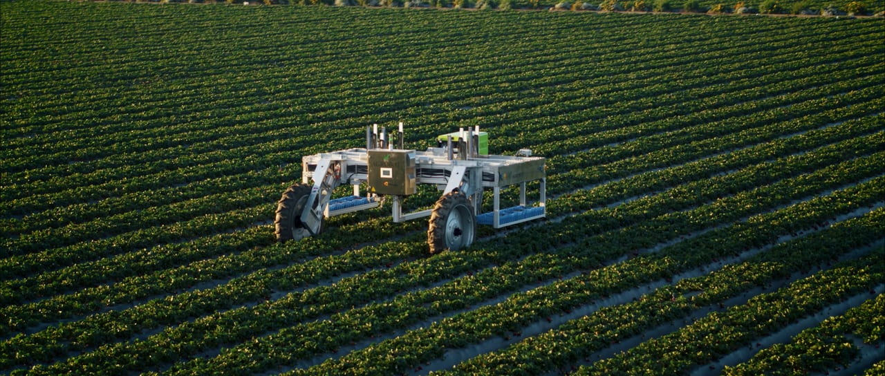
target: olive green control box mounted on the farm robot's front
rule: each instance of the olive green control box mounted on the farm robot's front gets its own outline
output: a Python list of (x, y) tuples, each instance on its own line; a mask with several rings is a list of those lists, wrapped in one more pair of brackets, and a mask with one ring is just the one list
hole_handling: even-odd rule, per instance
[(369, 187), (379, 195), (417, 192), (415, 150), (368, 150)]

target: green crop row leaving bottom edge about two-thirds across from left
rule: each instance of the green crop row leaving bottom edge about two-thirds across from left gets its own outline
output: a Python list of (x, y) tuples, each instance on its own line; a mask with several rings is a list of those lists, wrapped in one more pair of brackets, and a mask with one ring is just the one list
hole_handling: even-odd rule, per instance
[(673, 334), (644, 341), (615, 357), (582, 367), (575, 374), (608, 375), (642, 369), (687, 372), (827, 305), (852, 295), (869, 294), (885, 283), (885, 265), (879, 262), (882, 256), (881, 251), (875, 252), (851, 265), (799, 280), (789, 288), (754, 296), (750, 302), (725, 312), (712, 312)]

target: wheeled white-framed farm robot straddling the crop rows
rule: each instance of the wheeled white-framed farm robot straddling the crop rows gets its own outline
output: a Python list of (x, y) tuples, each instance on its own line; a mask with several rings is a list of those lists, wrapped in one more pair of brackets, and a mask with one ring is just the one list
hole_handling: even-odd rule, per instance
[[(287, 189), (278, 202), (277, 240), (285, 242), (317, 235), (323, 220), (338, 214), (381, 206), (389, 200), (396, 223), (430, 217), (430, 252), (463, 249), (473, 242), (476, 225), (511, 226), (546, 216), (545, 159), (519, 150), (516, 157), (489, 156), (489, 134), (479, 127), (443, 134), (438, 147), (405, 150), (403, 123), (398, 149), (392, 134), (378, 126), (366, 127), (366, 149), (339, 150), (302, 158), (301, 183)], [(527, 182), (540, 181), (541, 197), (527, 204)], [(360, 185), (366, 183), (366, 194)], [(352, 196), (333, 198), (335, 188), (350, 184)], [(419, 184), (443, 191), (432, 209), (403, 212), (403, 199), (417, 193)], [(501, 189), (519, 184), (519, 204), (500, 208)], [(493, 209), (481, 212), (483, 189), (493, 192)], [(348, 193), (349, 194), (349, 193)], [(341, 196), (341, 195), (338, 195)], [(514, 199), (515, 201), (515, 199)]]

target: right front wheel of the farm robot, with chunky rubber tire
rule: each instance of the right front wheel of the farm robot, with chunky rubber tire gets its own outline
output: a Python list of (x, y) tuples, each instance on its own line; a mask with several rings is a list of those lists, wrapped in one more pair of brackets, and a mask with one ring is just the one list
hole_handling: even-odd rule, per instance
[(431, 254), (446, 249), (464, 249), (473, 243), (475, 234), (476, 215), (467, 196), (452, 191), (436, 200), (427, 228), (427, 244), (430, 245)]

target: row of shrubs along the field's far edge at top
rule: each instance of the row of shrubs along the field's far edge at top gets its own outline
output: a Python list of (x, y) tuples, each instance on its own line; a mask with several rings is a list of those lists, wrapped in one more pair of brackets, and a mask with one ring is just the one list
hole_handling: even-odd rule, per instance
[[(191, 4), (298, 4), (298, 5), (335, 5), (335, 6), (385, 6), (405, 8), (474, 8), (474, 9), (543, 9), (572, 10), (572, 11), (597, 11), (597, 12), (699, 12), (710, 14), (797, 14), (797, 15), (822, 15), (822, 16), (855, 16), (870, 15), (866, 5), (857, 1), (846, 4), (843, 9), (834, 5), (816, 8), (810, 3), (799, 1), (789, 6), (781, 5), (778, 0), (763, 0), (758, 7), (738, 2), (734, 6), (727, 4), (714, 4), (704, 6), (699, 0), (684, 0), (681, 7), (673, 4), (672, 0), (603, 0), (595, 5), (576, 1), (570, 3), (562, 0), (558, 4), (550, 6), (543, 4), (543, 0), (128, 0), (135, 2), (150, 3), (191, 3)], [(789, 8), (789, 9), (788, 9)], [(873, 14), (875, 17), (885, 17), (885, 11)]]

